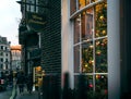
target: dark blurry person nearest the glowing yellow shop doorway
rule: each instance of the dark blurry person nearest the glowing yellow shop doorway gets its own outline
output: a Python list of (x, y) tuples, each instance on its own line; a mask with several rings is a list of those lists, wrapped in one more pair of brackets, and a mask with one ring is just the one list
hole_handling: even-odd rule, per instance
[(33, 90), (33, 74), (29, 73), (26, 79), (27, 91), (31, 94)]

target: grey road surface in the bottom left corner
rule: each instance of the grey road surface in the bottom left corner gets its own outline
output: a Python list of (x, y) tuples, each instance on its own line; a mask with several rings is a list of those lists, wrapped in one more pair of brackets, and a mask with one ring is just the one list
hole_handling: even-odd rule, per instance
[(0, 99), (10, 99), (12, 94), (12, 88), (8, 87), (7, 90), (0, 91)]

